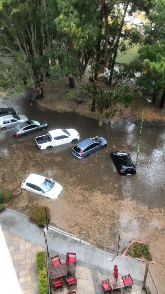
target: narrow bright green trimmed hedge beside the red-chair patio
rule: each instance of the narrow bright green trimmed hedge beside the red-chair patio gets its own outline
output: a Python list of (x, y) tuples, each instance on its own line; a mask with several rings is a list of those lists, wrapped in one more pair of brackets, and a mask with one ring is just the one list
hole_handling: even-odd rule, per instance
[(45, 269), (45, 252), (37, 252), (36, 264), (38, 269), (38, 286), (40, 294), (47, 294), (48, 277)]

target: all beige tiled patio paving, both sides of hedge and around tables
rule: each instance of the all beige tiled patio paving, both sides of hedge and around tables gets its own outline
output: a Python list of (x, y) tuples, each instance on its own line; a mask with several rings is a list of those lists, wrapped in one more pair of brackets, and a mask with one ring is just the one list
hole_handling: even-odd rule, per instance
[[(20, 287), (23, 294), (38, 294), (38, 273), (36, 269), (36, 254), (38, 251), (44, 250), (44, 248), (25, 240), (7, 230), (3, 229), (3, 234), (8, 246), (8, 250), (19, 280)], [(50, 252), (51, 256), (55, 255), (55, 252)], [(64, 256), (61, 259), (65, 262)], [(76, 291), (77, 294), (100, 294), (101, 292), (101, 279), (107, 279), (108, 275), (103, 274), (101, 269), (87, 267), (81, 262), (78, 262), (76, 266), (77, 287), (72, 286), (70, 291)], [(64, 281), (64, 289), (56, 290), (55, 294), (67, 294), (67, 284)], [(133, 285), (131, 294), (145, 294), (141, 290), (142, 283), (136, 281)], [(54, 292), (54, 291), (53, 291)], [(53, 293), (52, 292), (52, 293)]]

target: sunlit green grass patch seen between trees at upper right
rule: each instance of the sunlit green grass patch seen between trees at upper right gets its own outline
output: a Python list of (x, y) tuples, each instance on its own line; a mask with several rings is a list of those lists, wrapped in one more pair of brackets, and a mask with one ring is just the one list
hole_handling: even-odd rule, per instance
[(119, 64), (130, 63), (134, 58), (138, 56), (138, 49), (139, 49), (139, 45), (135, 45), (134, 47), (128, 49), (125, 54), (119, 51), (118, 56), (116, 58), (116, 63), (119, 63)]

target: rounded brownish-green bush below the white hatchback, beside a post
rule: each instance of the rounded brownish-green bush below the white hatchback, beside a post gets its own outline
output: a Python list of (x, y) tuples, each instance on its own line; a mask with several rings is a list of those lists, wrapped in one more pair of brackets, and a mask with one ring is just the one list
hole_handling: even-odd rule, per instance
[[(47, 219), (50, 220), (50, 209), (46, 207)], [(45, 206), (35, 207), (30, 214), (30, 219), (35, 220), (39, 227), (43, 227), (46, 224)]]

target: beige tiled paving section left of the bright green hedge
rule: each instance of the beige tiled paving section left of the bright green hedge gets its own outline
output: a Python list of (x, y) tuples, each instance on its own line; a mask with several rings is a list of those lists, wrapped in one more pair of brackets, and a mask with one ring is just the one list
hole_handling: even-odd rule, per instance
[(38, 294), (36, 254), (44, 250), (15, 234), (2, 229), (23, 294)]

